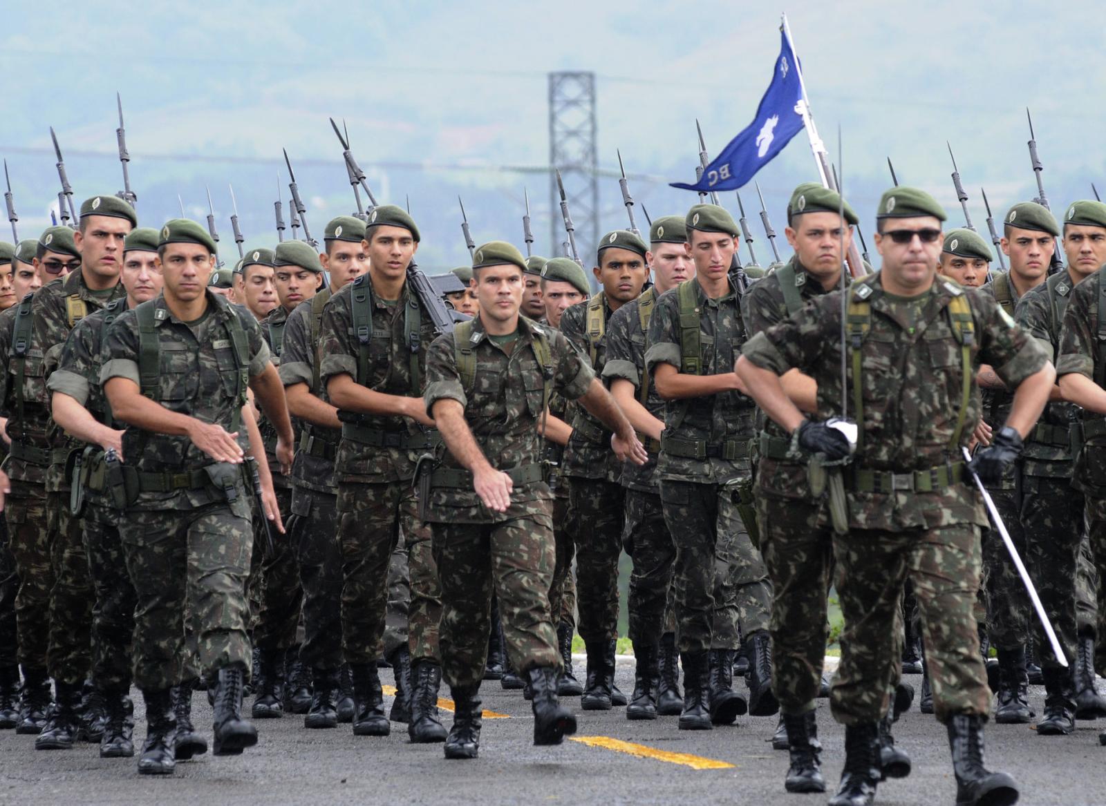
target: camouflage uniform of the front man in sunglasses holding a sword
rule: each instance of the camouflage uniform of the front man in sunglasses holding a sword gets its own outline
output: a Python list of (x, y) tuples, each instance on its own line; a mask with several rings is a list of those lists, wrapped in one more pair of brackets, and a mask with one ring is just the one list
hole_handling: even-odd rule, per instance
[[(972, 613), (979, 589), (979, 528), (987, 523), (980, 496), (966, 483), (960, 446), (980, 416), (974, 384), (980, 363), (995, 367), (1011, 387), (1047, 362), (1041, 348), (994, 301), (968, 292), (974, 338), (962, 399), (963, 347), (942, 313), (964, 294), (935, 282), (911, 300), (883, 292), (879, 274), (857, 281), (852, 300), (870, 305), (863, 337), (860, 440), (844, 469), (849, 531), (834, 536), (845, 617), (842, 661), (834, 678), (834, 718), (848, 725), (875, 723), (889, 708), (886, 669), (899, 661), (896, 619), (909, 576), (921, 611), (937, 718), (985, 718), (990, 692)], [(867, 287), (865, 296), (856, 289)], [(958, 305), (960, 303), (957, 303)], [(799, 314), (754, 336), (744, 348), (757, 366), (782, 375), (792, 367), (817, 381), (817, 419), (839, 415), (842, 378), (841, 292), (820, 297)], [(849, 350), (852, 354), (852, 350)], [(848, 389), (854, 389), (852, 362)], [(962, 426), (956, 444), (956, 423)]]

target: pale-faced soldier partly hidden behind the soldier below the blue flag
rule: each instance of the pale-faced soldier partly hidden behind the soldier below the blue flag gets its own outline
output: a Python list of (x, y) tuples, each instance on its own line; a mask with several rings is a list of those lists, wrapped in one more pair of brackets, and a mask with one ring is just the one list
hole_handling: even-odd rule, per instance
[[(664, 711), (679, 713), (678, 691), (674, 691), (676, 671), (675, 637), (665, 636), (668, 592), (672, 583), (676, 543), (665, 524), (654, 470), (665, 429), (665, 401), (649, 384), (645, 373), (645, 339), (657, 297), (684, 282), (692, 271), (691, 259), (684, 244), (687, 230), (679, 216), (658, 218), (649, 228), (649, 251), (646, 261), (654, 275), (654, 285), (633, 302), (622, 305), (612, 316), (607, 334), (607, 362), (603, 378), (611, 395), (637, 430), (638, 439), (649, 453), (640, 468), (623, 467), (620, 483), (625, 489), (625, 528), (623, 544), (634, 561), (629, 578), (629, 638), (634, 642), (634, 693), (626, 708), (626, 719), (656, 719), (661, 689), (666, 695)], [(665, 662), (660, 653), (665, 652)], [(719, 664), (719, 676), (732, 674), (732, 660)], [(664, 682), (661, 682), (664, 668)], [(729, 688), (729, 687), (727, 687)], [(733, 692), (728, 692), (733, 697)], [(721, 694), (720, 697), (724, 697)]]

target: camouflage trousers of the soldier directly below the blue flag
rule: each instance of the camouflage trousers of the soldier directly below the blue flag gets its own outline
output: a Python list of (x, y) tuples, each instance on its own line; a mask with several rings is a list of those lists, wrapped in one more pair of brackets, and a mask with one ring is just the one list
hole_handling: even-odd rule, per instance
[(676, 541), (680, 652), (737, 649), (741, 634), (769, 628), (772, 583), (733, 484), (661, 481), (665, 523)]

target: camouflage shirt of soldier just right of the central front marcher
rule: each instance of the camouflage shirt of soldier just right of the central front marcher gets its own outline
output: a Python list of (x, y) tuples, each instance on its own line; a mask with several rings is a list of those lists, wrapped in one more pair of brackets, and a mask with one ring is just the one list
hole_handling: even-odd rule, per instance
[[(581, 357), (592, 365), (595, 375), (602, 377), (607, 360), (612, 313), (606, 294), (601, 291), (599, 297), (603, 303), (602, 336), (593, 341), (588, 333), (589, 300), (576, 303), (562, 314), (561, 333), (576, 348)], [(568, 438), (568, 444), (564, 447), (562, 474), (570, 478), (618, 481), (622, 477), (622, 462), (611, 450), (611, 431), (582, 406), (574, 406), (572, 410), (572, 420), (568, 423), (572, 426), (572, 436)]]

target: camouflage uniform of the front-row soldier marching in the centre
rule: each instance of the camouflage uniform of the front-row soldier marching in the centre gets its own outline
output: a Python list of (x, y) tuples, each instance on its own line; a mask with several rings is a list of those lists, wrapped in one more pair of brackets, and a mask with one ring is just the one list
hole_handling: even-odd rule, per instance
[[(453, 690), (476, 690), (483, 678), (491, 595), (499, 597), (508, 659), (523, 677), (535, 668), (560, 673), (561, 656), (550, 618), (553, 579), (552, 500), (541, 478), (538, 422), (545, 406), (543, 367), (531, 348), (540, 328), (519, 317), (513, 344), (497, 345), (472, 322), (476, 371), (465, 388), (453, 334), (439, 337), (427, 359), (427, 411), (442, 399), (465, 407), (466, 421), (497, 470), (513, 473), (511, 506), (492, 512), (472, 490), (472, 477), (450, 454), (434, 471), (427, 521), (441, 573), (442, 676)], [(578, 398), (595, 377), (556, 331), (543, 331), (552, 354), (551, 386)]]

